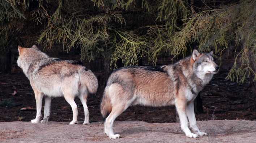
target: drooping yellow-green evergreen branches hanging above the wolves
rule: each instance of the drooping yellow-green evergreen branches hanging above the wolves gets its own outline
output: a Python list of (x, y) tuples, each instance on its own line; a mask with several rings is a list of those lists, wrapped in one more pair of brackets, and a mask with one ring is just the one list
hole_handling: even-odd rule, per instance
[(112, 66), (144, 57), (155, 64), (198, 46), (220, 60), (230, 51), (235, 63), (227, 78), (244, 82), (248, 75), (256, 80), (255, 21), (254, 0), (2, 0), (0, 45), (80, 48), (82, 60), (110, 54)]

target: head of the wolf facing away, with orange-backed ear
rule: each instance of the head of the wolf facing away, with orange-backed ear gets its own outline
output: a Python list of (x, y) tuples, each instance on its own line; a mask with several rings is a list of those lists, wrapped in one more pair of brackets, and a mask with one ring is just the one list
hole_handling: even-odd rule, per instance
[(30, 64), (36, 59), (47, 58), (46, 54), (38, 50), (37, 46), (33, 45), (31, 48), (18, 46), (19, 57), (17, 60), (18, 66), (23, 70), (27, 76)]

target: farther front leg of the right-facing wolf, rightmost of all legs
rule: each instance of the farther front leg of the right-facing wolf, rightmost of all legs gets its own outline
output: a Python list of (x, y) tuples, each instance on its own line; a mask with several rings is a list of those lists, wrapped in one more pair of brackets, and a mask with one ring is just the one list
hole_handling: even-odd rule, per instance
[(187, 115), (189, 120), (189, 125), (193, 129), (193, 131), (200, 136), (207, 135), (207, 133), (200, 132), (199, 128), (196, 125), (196, 116), (194, 111), (194, 101), (188, 103), (187, 105)]

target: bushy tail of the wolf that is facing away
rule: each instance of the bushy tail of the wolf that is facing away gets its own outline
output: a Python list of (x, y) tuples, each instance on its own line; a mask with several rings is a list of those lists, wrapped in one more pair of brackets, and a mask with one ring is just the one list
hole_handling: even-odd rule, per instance
[(96, 93), (98, 89), (98, 79), (93, 74), (93, 72), (91, 72), (91, 70), (83, 68), (78, 73), (82, 86), (86, 86), (90, 93)]

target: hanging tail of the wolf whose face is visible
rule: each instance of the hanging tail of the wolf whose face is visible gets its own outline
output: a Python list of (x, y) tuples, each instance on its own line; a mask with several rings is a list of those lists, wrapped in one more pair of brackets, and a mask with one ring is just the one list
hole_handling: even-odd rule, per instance
[(107, 90), (108, 87), (105, 88), (101, 101), (101, 115), (104, 119), (106, 119), (107, 115), (112, 111), (112, 105)]

